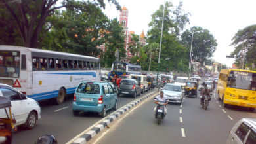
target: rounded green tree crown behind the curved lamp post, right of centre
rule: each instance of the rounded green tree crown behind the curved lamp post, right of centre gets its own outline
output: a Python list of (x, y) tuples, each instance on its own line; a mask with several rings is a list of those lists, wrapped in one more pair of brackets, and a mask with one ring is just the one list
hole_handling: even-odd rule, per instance
[[(215, 52), (217, 48), (217, 41), (214, 39), (213, 35), (211, 35), (209, 30), (203, 29), (202, 27), (191, 27), (190, 31), (197, 32), (193, 35), (192, 60), (203, 63), (213, 56), (213, 52)], [(186, 30), (181, 35), (181, 43), (187, 48), (187, 58), (190, 56), (192, 38), (192, 33), (190, 33), (190, 31)]]

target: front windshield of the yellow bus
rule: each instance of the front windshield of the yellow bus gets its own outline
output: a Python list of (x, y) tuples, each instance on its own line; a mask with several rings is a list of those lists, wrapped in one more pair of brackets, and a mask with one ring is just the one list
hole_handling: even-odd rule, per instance
[(256, 73), (230, 71), (227, 86), (244, 90), (256, 90)]

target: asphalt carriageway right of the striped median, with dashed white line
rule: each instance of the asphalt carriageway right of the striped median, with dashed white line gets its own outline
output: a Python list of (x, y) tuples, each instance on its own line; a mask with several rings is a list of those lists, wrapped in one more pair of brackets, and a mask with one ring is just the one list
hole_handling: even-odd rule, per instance
[(213, 94), (206, 111), (200, 106), (200, 98), (186, 97), (182, 105), (167, 105), (161, 125), (154, 118), (155, 106), (153, 98), (148, 99), (90, 143), (226, 143), (229, 131), (240, 118), (256, 118), (256, 110), (224, 108), (217, 94)]

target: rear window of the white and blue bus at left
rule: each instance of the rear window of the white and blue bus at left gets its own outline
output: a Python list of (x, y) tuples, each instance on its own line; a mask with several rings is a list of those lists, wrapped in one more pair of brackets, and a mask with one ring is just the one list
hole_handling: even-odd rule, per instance
[(20, 52), (0, 51), (0, 77), (18, 77)]

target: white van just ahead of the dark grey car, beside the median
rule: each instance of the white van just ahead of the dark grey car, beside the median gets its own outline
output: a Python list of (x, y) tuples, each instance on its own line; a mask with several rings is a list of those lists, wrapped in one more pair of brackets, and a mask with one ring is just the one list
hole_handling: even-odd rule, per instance
[(129, 75), (129, 79), (137, 79), (137, 81), (140, 84), (141, 93), (144, 93), (145, 91), (150, 90), (150, 85), (146, 81), (146, 75), (131, 74), (131, 75)]

